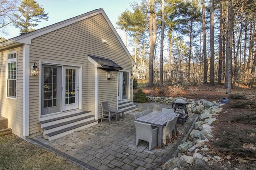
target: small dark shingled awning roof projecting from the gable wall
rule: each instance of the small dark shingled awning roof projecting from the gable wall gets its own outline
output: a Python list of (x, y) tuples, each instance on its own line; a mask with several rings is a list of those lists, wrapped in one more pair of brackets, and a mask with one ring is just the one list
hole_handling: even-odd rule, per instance
[(94, 55), (88, 55), (88, 56), (100, 65), (100, 67), (98, 68), (102, 68), (104, 70), (122, 70), (123, 69), (121, 66), (119, 66), (118, 64), (116, 64), (114, 61), (110, 59), (97, 57)]

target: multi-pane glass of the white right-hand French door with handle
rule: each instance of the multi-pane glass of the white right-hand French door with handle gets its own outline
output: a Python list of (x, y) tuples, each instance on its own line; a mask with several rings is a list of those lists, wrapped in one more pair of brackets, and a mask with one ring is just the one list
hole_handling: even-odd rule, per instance
[(76, 96), (76, 70), (66, 68), (65, 104), (74, 104)]

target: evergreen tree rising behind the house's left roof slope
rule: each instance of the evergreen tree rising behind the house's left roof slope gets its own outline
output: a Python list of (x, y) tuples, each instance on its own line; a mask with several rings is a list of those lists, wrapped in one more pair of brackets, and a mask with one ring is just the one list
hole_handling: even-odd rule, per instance
[[(37, 23), (42, 22), (42, 20), (48, 21), (48, 13), (45, 13), (42, 5), (40, 6), (34, 0), (23, 0), (18, 11), (22, 17), (14, 23), (14, 26), (20, 28), (22, 33), (34, 31), (33, 27), (36, 27)], [(15, 16), (18, 17), (16, 14)]]

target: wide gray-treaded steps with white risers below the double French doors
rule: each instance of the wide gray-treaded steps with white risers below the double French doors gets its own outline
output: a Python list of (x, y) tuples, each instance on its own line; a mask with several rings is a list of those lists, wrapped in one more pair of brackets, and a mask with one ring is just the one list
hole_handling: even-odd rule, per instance
[(98, 120), (94, 119), (94, 115), (91, 115), (90, 111), (83, 111), (38, 122), (44, 139), (48, 141), (64, 137), (96, 124), (98, 124)]

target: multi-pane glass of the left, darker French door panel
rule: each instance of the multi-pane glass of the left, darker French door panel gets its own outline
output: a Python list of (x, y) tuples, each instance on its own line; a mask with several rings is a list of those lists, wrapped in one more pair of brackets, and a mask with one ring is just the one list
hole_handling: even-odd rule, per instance
[(57, 68), (44, 67), (44, 108), (57, 106)]

